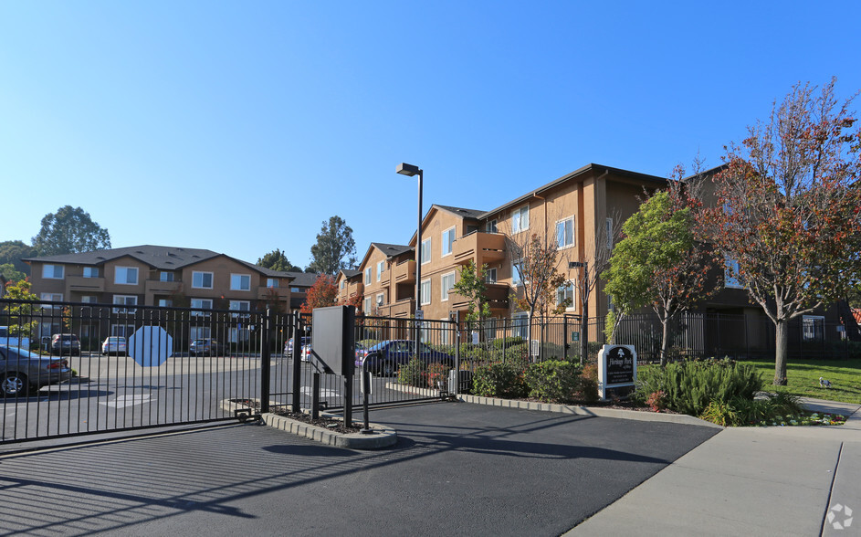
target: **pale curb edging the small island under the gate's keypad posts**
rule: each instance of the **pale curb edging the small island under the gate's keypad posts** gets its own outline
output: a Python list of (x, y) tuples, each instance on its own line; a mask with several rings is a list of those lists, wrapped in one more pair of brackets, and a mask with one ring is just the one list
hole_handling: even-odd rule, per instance
[[(233, 414), (236, 410), (248, 408), (247, 405), (240, 405), (229, 399), (221, 402), (221, 407)], [(341, 416), (332, 416), (323, 414), (323, 416), (339, 419)], [(373, 430), (373, 434), (364, 435), (362, 433), (342, 434), (329, 429), (313, 426), (304, 422), (296, 421), (285, 416), (267, 413), (262, 415), (263, 423), (267, 426), (277, 428), (278, 430), (306, 437), (326, 444), (328, 446), (343, 447), (346, 449), (380, 449), (383, 447), (394, 446), (397, 443), (397, 431), (393, 428), (381, 426), (378, 424), (369, 424)]]

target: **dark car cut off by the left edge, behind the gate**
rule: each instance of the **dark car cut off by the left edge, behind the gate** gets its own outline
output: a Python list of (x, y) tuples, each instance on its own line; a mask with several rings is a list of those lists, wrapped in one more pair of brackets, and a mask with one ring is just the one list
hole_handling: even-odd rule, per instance
[(58, 384), (72, 378), (72, 370), (63, 358), (42, 356), (18, 347), (0, 345), (0, 395), (26, 397), (47, 384)]

